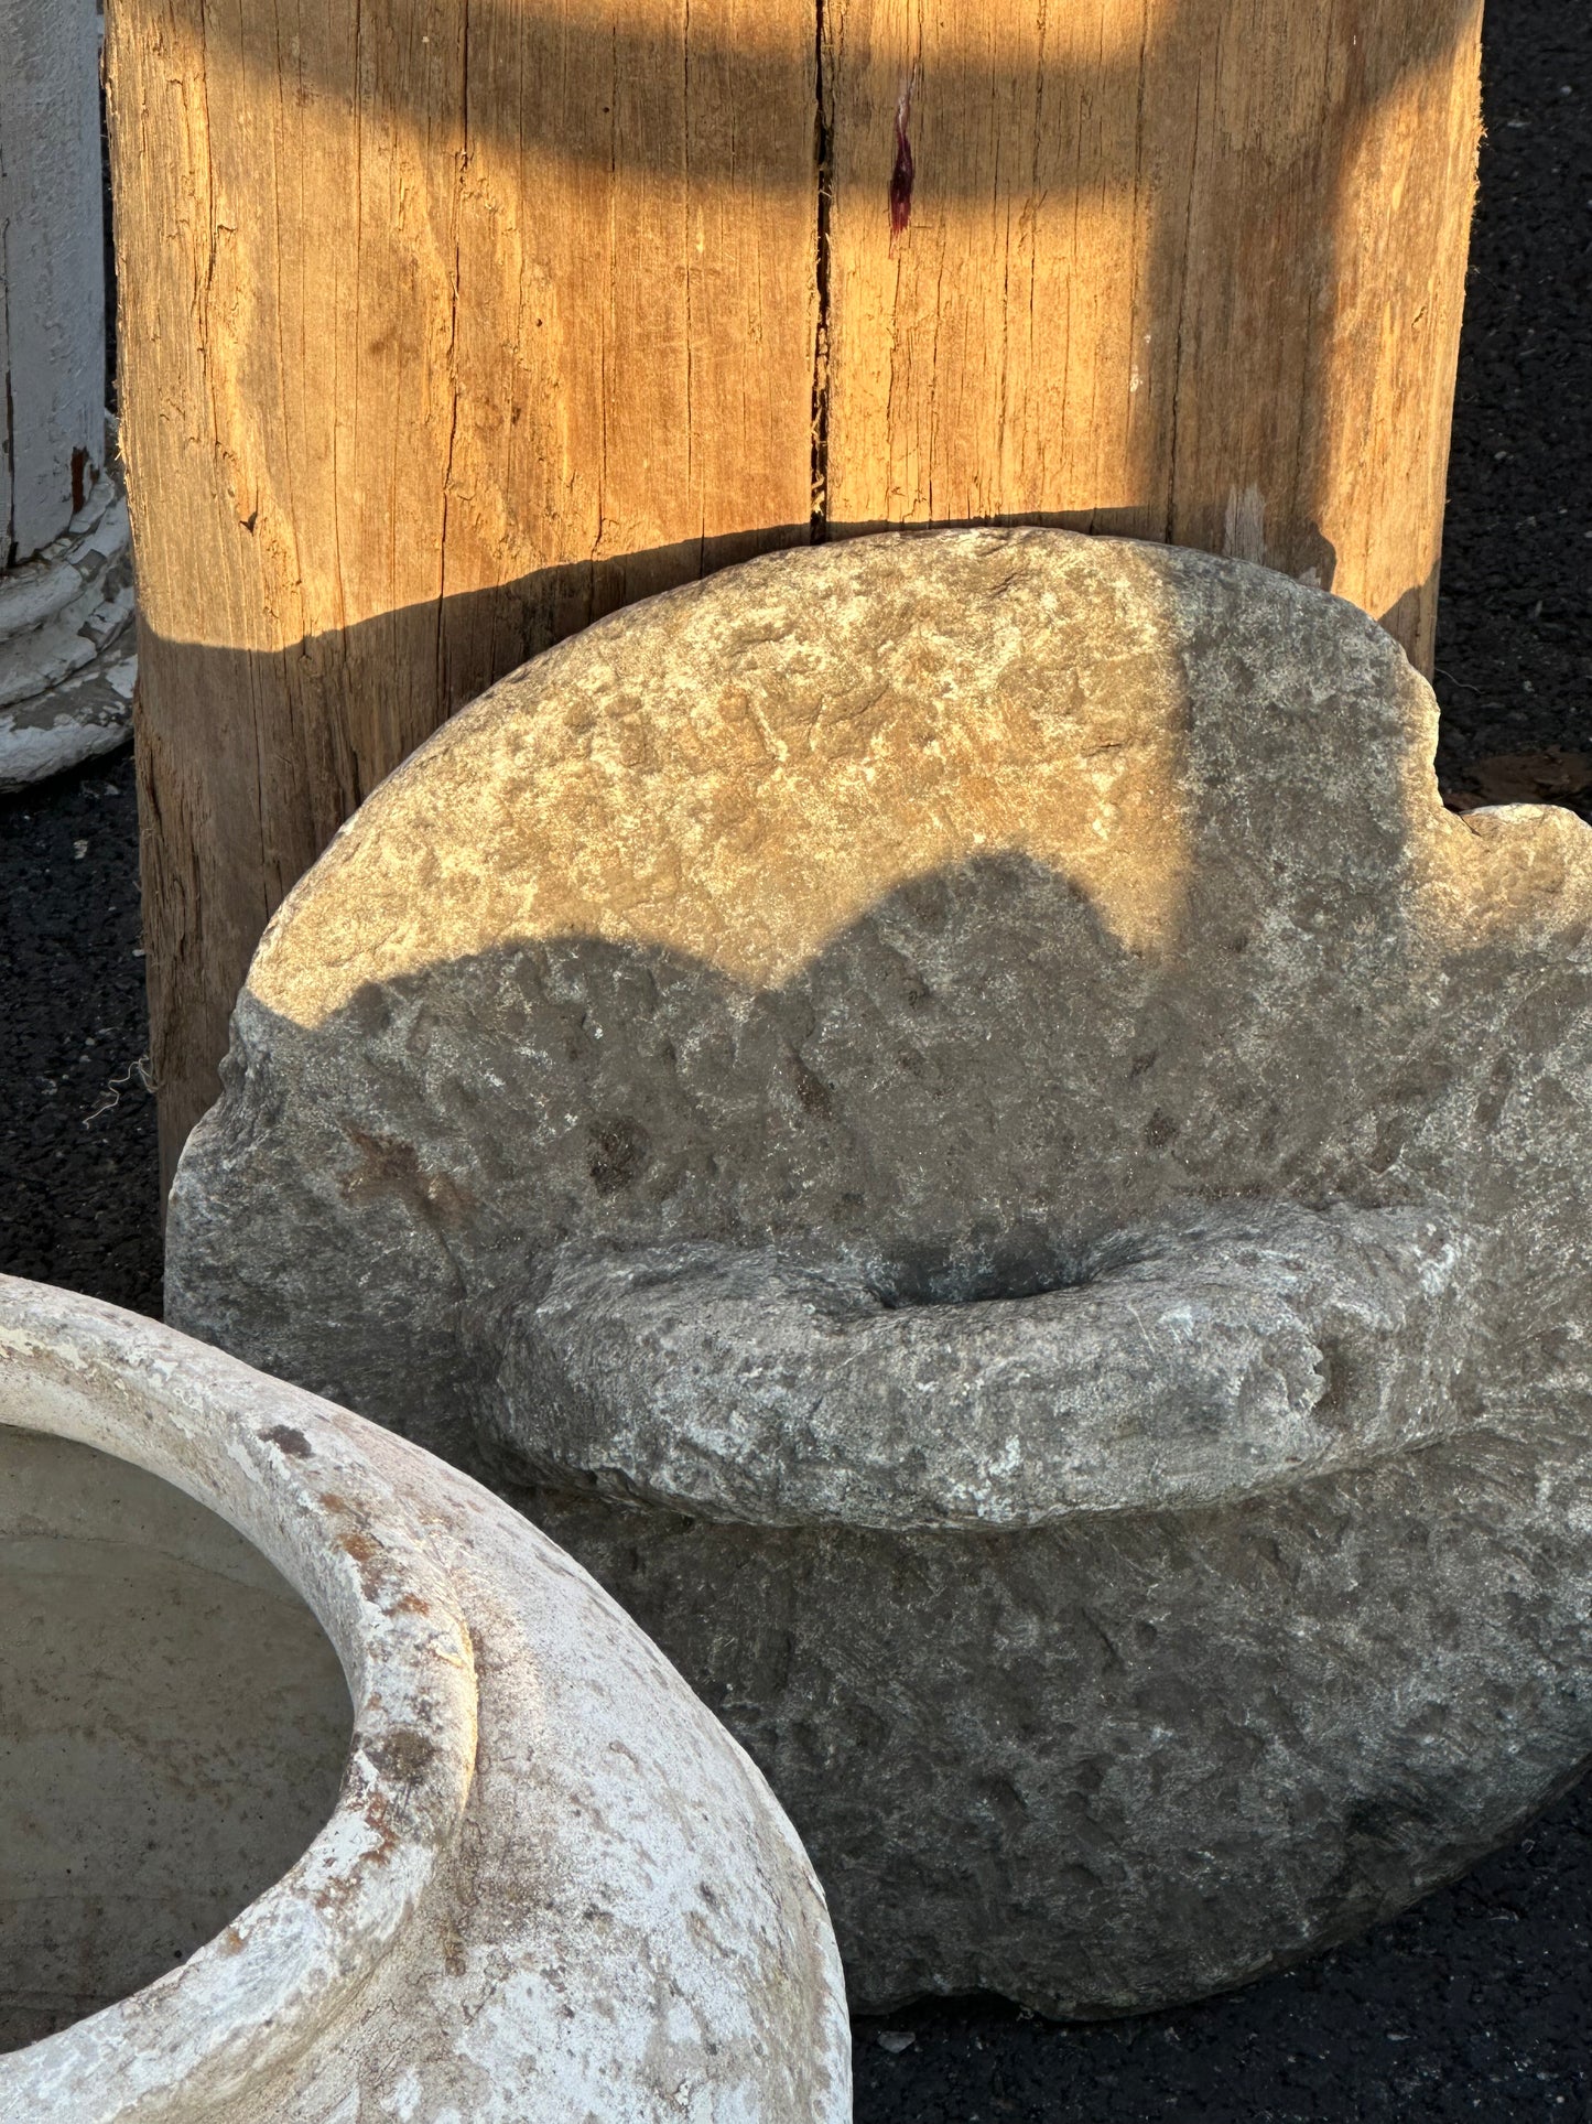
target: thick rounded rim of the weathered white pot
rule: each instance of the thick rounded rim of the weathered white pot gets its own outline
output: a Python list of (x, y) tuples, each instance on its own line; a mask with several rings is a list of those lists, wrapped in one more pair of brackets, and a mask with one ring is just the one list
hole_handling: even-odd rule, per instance
[(291, 2065), (403, 1935), (475, 1767), (465, 1616), (329, 1402), (115, 1306), (0, 1277), (0, 1425), (187, 1491), (293, 1585), (354, 1708), (338, 1805), (304, 1856), (144, 1990), (0, 2058), (0, 2113), (187, 2116)]

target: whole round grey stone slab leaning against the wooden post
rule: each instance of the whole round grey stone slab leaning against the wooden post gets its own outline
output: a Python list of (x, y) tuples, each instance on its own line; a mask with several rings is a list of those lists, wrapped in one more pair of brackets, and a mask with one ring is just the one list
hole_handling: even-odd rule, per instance
[(1592, 835), (1363, 614), (1061, 531), (526, 665), (270, 928), (197, 1334), (484, 1472), (768, 1774), (851, 1997), (1187, 1999), (1592, 1752)]

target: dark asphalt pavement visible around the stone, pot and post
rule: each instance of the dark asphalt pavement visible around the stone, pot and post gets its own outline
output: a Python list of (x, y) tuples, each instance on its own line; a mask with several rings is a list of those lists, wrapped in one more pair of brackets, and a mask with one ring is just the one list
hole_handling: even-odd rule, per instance
[[(1456, 803), (1588, 809), (1592, 8), (1490, 0), (1488, 147), (1439, 629)], [(1499, 765), (1499, 754), (1505, 756)], [(1577, 788), (1577, 784), (1581, 784)], [(125, 754), (0, 801), (0, 1268), (159, 1311)], [(1592, 2118), (1592, 1788), (1369, 1939), (1095, 2028), (998, 2001), (858, 2024), (860, 2124)]]

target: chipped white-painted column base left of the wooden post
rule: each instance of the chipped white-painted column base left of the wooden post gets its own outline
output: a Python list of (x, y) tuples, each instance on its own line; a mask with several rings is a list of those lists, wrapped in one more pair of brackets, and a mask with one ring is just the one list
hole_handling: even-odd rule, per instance
[(132, 735), (127, 497), (106, 467), (66, 531), (0, 573), (0, 794)]

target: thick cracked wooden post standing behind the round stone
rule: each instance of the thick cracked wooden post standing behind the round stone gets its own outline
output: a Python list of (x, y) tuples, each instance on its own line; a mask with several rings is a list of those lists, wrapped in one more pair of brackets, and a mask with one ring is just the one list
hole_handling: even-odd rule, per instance
[(492, 678), (1046, 520), (1431, 663), (1479, 0), (113, 0), (166, 1166), (263, 922)]

